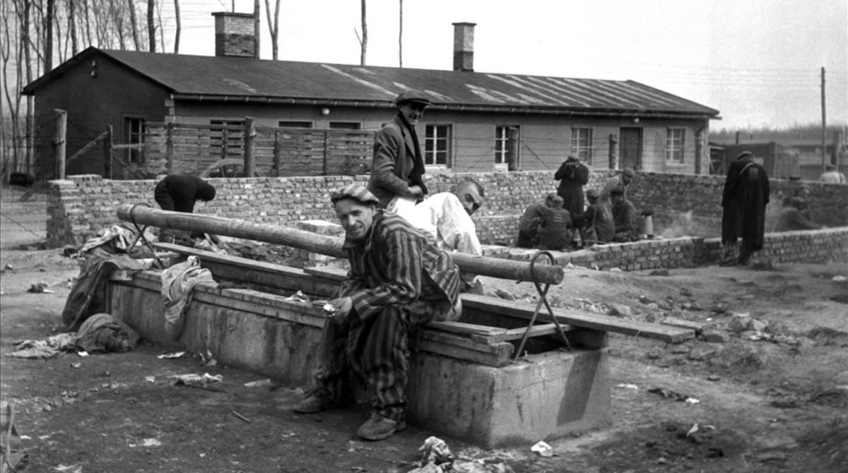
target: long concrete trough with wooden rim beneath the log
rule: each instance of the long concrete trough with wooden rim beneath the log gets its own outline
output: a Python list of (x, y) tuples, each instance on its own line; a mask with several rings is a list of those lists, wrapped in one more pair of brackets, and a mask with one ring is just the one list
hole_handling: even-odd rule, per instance
[[(230, 273), (224, 276), (213, 270), (215, 279), (232, 281), (234, 274), (250, 274), (248, 279), (259, 277), (262, 286), (276, 287), (279, 293), (198, 285), (177, 341), (165, 332), (159, 271), (110, 281), (110, 311), (153, 342), (194, 353), (209, 350), (220, 363), (261, 373), (289, 387), (310, 387), (325, 316), (321, 307), (283, 294), (311, 288), (312, 297), (328, 298), (326, 292), (338, 283), (334, 281), (338, 274), (241, 264), (255, 265), (254, 270), (233, 270), (224, 264)], [(609, 423), (609, 364), (600, 348), (605, 332), (565, 326), (575, 347), (566, 351), (551, 331), (540, 330), (540, 336), (528, 340), (526, 356), (512, 363), (516, 331), (523, 332), (527, 320), (505, 315), (514, 309), (497, 309), (499, 299), (477, 296), (469, 302), (461, 319), (468, 323), (432, 324), (410, 338), (408, 414), (413, 425), (496, 448)], [(523, 310), (526, 317), (533, 308)], [(479, 325), (483, 321), (487, 326)]]

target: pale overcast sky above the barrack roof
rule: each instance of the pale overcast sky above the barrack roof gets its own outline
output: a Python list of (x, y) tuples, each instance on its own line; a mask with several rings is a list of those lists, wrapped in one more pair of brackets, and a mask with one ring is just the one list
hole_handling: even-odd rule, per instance
[[(262, 6), (261, 57), (271, 58)], [(271, 8), (275, 0), (271, 0)], [(281, 0), (282, 60), (359, 64), (360, 0)], [(180, 53), (213, 55), (212, 12), (181, 0)], [(173, 3), (162, 1), (166, 25)], [(477, 23), (474, 70), (633, 80), (721, 112), (713, 130), (848, 122), (845, 0), (404, 0), (404, 67), (450, 70), (453, 26)], [(367, 0), (368, 65), (399, 64), (399, 0)], [(169, 22), (170, 19), (170, 22)], [(360, 32), (361, 34), (361, 32)], [(173, 51), (172, 44), (166, 47)]]

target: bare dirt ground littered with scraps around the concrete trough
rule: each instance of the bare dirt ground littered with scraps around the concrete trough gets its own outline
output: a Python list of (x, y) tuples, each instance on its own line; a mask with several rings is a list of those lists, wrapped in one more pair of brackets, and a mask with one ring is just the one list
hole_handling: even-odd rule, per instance
[[(406, 472), (432, 435), (410, 426), (362, 442), (355, 430), (365, 410), (296, 415), (296, 390), (245, 387), (263, 378), (190, 354), (159, 359), (164, 348), (149, 343), (123, 354), (8, 357), (17, 341), (62, 331), (78, 266), (59, 250), (4, 249), (0, 267), (0, 391), (30, 471)], [(554, 305), (673, 316), (706, 324), (704, 336), (669, 345), (611, 335), (613, 422), (550, 440), (554, 456), (444, 440), (457, 456), (504, 459), (516, 472), (848, 471), (845, 276), (848, 264), (566, 270), (550, 289)], [(488, 294), (533, 300), (530, 284), (483, 281)], [(27, 292), (39, 282), (53, 292)], [(204, 372), (223, 377), (215, 391), (170, 377)]]

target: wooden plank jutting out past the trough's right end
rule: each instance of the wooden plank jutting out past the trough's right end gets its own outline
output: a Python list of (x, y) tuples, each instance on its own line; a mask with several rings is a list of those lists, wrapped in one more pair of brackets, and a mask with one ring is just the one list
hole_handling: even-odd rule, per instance
[[(526, 304), (500, 299), (462, 294), (462, 306), (466, 309), (487, 311), (494, 314), (510, 315), (529, 320), (533, 317), (533, 309)], [(679, 343), (695, 337), (695, 331), (681, 327), (663, 326), (638, 320), (624, 320), (609, 315), (589, 314), (572, 309), (554, 309), (554, 315), (561, 324), (586, 327), (600, 331), (613, 331), (635, 337), (654, 338), (663, 342)], [(552, 322), (553, 318), (547, 311), (539, 312), (538, 321)]]

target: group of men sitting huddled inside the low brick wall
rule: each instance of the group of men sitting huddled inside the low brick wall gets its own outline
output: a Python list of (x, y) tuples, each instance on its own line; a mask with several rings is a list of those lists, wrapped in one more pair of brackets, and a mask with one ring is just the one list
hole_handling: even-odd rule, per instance
[(572, 215), (563, 208), (563, 199), (550, 193), (544, 202), (533, 203), (518, 224), (518, 248), (567, 251), (609, 242), (639, 240), (639, 214), (622, 187), (609, 192), (609, 201), (589, 189), (589, 205)]

